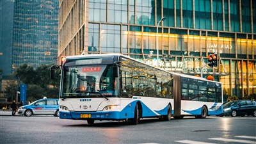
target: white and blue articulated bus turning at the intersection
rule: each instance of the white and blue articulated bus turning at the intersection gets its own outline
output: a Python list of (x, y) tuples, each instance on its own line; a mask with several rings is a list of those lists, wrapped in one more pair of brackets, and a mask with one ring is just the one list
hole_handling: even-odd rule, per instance
[(168, 72), (122, 54), (67, 56), (60, 66), (60, 118), (117, 120), (205, 118), (223, 111), (222, 84)]

